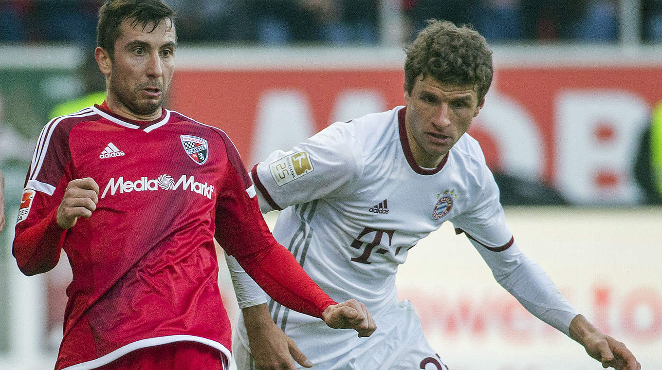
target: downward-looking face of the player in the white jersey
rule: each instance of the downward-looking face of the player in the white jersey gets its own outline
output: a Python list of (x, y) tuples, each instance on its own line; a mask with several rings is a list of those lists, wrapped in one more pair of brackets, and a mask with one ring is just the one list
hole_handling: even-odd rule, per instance
[(428, 168), (442, 162), (485, 102), (478, 101), (473, 85), (440, 83), (430, 76), (418, 76), (411, 94), (404, 91), (404, 100), (409, 146), (416, 163)]

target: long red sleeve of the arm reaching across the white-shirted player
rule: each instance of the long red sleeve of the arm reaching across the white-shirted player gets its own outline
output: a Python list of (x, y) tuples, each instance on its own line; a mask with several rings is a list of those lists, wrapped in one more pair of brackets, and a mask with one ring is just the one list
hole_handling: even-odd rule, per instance
[(321, 318), (324, 308), (336, 302), (273, 238), (236, 148), (229, 138), (225, 137), (224, 141), (228, 166), (216, 200), (216, 240), (275, 301)]

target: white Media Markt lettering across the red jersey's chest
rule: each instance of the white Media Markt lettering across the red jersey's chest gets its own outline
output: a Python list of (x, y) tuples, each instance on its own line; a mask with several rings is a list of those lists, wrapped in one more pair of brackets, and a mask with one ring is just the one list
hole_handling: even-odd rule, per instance
[(120, 176), (117, 180), (113, 177), (108, 181), (101, 198), (105, 198), (108, 191), (111, 192), (110, 195), (115, 195), (118, 189), (120, 193), (131, 193), (132, 191), (157, 191), (159, 189), (177, 190), (180, 186), (182, 190), (190, 189), (193, 193), (204, 195), (209, 199), (211, 199), (214, 192), (214, 185), (209, 185), (206, 182), (198, 183), (193, 176), (181, 175), (177, 182), (173, 177), (165, 174), (160, 175), (158, 179), (148, 179), (148, 177), (143, 176), (136, 181), (125, 181), (124, 176)]

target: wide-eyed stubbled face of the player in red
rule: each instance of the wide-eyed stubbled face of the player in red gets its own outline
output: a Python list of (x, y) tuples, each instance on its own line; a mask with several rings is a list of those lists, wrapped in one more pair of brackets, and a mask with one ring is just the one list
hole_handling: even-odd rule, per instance
[(168, 19), (161, 21), (154, 30), (153, 26), (147, 24), (143, 29), (140, 23), (132, 26), (129, 20), (122, 22), (107, 74), (109, 107), (138, 120), (161, 115), (175, 71), (175, 27)]

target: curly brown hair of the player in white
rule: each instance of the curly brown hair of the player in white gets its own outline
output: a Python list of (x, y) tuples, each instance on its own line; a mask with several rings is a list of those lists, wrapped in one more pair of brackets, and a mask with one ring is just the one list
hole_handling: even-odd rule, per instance
[(431, 75), (442, 83), (473, 85), (480, 102), (492, 83), (492, 52), (471, 26), (430, 19), (405, 48), (404, 88), (411, 93), (416, 77)]

